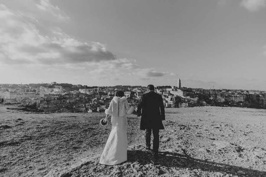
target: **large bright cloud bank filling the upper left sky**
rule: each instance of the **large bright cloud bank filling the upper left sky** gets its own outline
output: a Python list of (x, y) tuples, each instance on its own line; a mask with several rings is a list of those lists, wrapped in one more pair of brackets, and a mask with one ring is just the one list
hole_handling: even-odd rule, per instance
[(26, 74), (38, 70), (43, 72), (36, 75), (42, 75), (49, 71), (57, 77), (64, 75), (64, 79), (82, 78), (95, 83), (101, 80), (138, 83), (177, 75), (141, 68), (134, 59), (117, 58), (106, 44), (77, 40), (59, 27), (69, 17), (48, 0), (14, 1), (17, 4), (7, 1), (4, 5), (0, 0), (1, 65), (9, 68), (23, 65)]

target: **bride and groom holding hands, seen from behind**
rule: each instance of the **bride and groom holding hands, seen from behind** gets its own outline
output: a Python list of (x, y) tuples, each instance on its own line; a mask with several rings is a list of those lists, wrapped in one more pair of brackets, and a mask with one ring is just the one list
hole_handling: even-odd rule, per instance
[(141, 115), (140, 130), (145, 130), (146, 150), (151, 150), (150, 136), (153, 132), (153, 154), (154, 158), (158, 158), (159, 130), (164, 129), (164, 104), (162, 96), (154, 92), (153, 85), (148, 85), (147, 89), (148, 93), (141, 96), (137, 111), (129, 106), (123, 91), (117, 91), (111, 100), (109, 108), (105, 110), (106, 118), (102, 120), (104, 124), (112, 116), (112, 130), (100, 158), (101, 164), (116, 165), (127, 160), (126, 115), (130, 114)]

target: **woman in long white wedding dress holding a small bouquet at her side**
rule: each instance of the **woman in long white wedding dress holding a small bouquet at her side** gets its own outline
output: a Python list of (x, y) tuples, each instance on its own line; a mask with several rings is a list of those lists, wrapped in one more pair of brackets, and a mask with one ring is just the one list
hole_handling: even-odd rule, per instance
[(105, 113), (104, 122), (107, 121), (109, 115), (112, 115), (112, 130), (100, 158), (100, 163), (116, 165), (127, 160), (126, 115), (136, 114), (136, 112), (133, 106), (129, 106), (124, 92), (117, 91)]

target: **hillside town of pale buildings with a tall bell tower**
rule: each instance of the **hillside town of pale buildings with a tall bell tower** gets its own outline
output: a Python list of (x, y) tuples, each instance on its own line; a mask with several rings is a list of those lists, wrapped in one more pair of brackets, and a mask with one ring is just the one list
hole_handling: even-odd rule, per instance
[[(103, 112), (117, 90), (122, 90), (131, 106), (137, 108), (145, 86), (88, 87), (67, 83), (0, 84), (3, 104), (34, 105), (42, 112)], [(259, 90), (193, 89), (177, 86), (156, 86), (155, 92), (163, 98), (165, 107), (186, 108), (194, 106), (248, 105), (249, 95), (265, 96)], [(250, 104), (249, 104), (250, 105)], [(263, 108), (263, 107), (262, 107)]]

